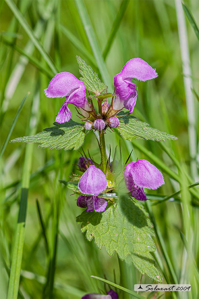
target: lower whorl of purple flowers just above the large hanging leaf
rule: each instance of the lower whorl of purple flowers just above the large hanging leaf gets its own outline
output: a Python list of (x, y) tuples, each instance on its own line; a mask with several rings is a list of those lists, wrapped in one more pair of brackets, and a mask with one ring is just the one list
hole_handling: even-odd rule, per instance
[[(90, 166), (88, 167), (86, 163)], [(110, 183), (102, 170), (93, 164), (91, 159), (79, 158), (78, 166), (83, 169), (84, 173), (78, 183), (78, 188), (83, 195), (77, 198), (77, 206), (87, 208), (87, 212), (93, 212), (94, 210), (103, 212), (106, 209), (107, 201), (98, 195), (102, 192), (109, 192)], [(148, 199), (143, 188), (157, 189), (164, 184), (161, 172), (144, 159), (128, 163), (123, 172), (123, 177), (130, 195), (141, 201)]]

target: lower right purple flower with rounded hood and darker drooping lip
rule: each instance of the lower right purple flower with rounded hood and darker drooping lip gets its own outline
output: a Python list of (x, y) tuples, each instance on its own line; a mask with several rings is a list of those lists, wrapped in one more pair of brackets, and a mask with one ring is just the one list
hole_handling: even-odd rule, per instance
[(143, 187), (157, 189), (164, 184), (163, 175), (147, 160), (127, 164), (124, 171), (126, 187), (137, 200), (147, 200)]

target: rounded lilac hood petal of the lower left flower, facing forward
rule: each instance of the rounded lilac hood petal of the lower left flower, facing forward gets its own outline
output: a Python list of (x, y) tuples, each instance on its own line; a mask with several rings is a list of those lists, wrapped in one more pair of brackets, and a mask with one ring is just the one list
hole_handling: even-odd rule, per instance
[(106, 189), (106, 175), (94, 165), (89, 166), (80, 178), (78, 188), (84, 194), (98, 195)]

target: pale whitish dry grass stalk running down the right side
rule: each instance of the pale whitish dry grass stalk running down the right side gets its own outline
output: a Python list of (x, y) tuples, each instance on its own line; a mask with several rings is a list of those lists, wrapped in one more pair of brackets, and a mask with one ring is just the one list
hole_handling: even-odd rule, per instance
[(191, 79), (191, 63), (188, 48), (187, 28), (185, 23), (185, 15), (182, 8), (181, 0), (175, 0), (176, 17), (178, 22), (178, 34), (180, 41), (181, 59), (182, 59), (182, 71), (185, 87), (185, 99), (187, 108), (187, 120), (188, 120), (188, 140), (189, 140), (189, 152), (191, 157), (190, 167), (191, 174), (194, 181), (198, 181), (198, 172), (196, 164), (197, 154), (197, 133), (196, 133), (196, 119), (194, 98), (192, 93), (192, 79)]

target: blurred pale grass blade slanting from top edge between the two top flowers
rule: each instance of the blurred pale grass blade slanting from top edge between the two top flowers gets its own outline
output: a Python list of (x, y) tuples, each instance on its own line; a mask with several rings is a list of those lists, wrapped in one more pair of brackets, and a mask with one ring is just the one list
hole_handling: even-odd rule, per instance
[(99, 71), (101, 73), (102, 79), (103, 79), (104, 83), (106, 85), (108, 85), (109, 88), (111, 88), (112, 83), (110, 81), (109, 74), (108, 74), (108, 71), (106, 69), (106, 64), (103, 60), (102, 52), (99, 48), (99, 43), (96, 39), (93, 27), (90, 23), (90, 19), (89, 19), (86, 7), (84, 5), (84, 2), (75, 0), (75, 4), (77, 6), (77, 10), (79, 12), (81, 21), (84, 25), (84, 29), (85, 29), (85, 32), (87, 34), (88, 40), (90, 42), (90, 46), (91, 46), (91, 49), (93, 51), (93, 55), (96, 59), (96, 63), (98, 65), (98, 68), (99, 68)]

